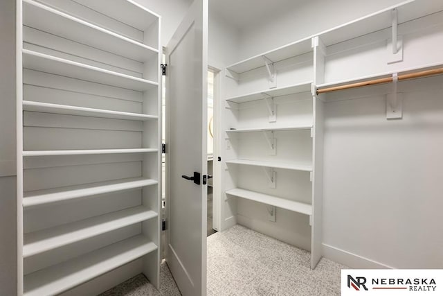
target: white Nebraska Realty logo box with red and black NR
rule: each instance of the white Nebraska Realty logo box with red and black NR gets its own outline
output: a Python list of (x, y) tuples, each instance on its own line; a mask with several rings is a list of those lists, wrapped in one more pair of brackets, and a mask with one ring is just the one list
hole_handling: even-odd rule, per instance
[(341, 295), (443, 295), (443, 270), (341, 270)]

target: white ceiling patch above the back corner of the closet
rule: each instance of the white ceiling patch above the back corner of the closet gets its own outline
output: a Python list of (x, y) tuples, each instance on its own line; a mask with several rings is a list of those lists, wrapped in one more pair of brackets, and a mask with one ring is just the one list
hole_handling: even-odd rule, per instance
[(241, 29), (263, 21), (272, 21), (286, 10), (309, 0), (209, 0), (209, 9)]

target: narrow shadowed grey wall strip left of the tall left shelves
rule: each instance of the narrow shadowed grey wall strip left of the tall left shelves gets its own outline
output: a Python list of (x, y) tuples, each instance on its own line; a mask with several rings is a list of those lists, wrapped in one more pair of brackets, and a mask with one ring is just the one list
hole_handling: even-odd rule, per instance
[(15, 0), (0, 1), (0, 294), (17, 294)]

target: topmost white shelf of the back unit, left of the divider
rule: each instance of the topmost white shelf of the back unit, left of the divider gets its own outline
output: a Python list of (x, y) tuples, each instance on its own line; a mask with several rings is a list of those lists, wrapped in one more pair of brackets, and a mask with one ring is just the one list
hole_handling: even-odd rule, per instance
[(290, 44), (278, 47), (271, 51), (266, 51), (260, 55), (255, 55), (252, 58), (236, 62), (235, 64), (230, 64), (226, 69), (229, 71), (234, 71), (235, 73), (241, 74), (253, 69), (264, 67), (263, 55), (266, 56), (272, 62), (280, 62), (281, 60), (286, 60), (288, 58), (295, 57), (297, 55), (302, 55), (303, 53), (309, 53), (312, 51), (311, 47), (311, 37), (292, 42)]

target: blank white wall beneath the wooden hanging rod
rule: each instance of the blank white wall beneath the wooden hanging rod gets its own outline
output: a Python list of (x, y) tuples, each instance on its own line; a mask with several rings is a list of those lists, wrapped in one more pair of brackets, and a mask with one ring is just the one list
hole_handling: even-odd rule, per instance
[(354, 268), (443, 268), (442, 85), (402, 82), (401, 120), (386, 120), (377, 89), (325, 104), (325, 256)]

